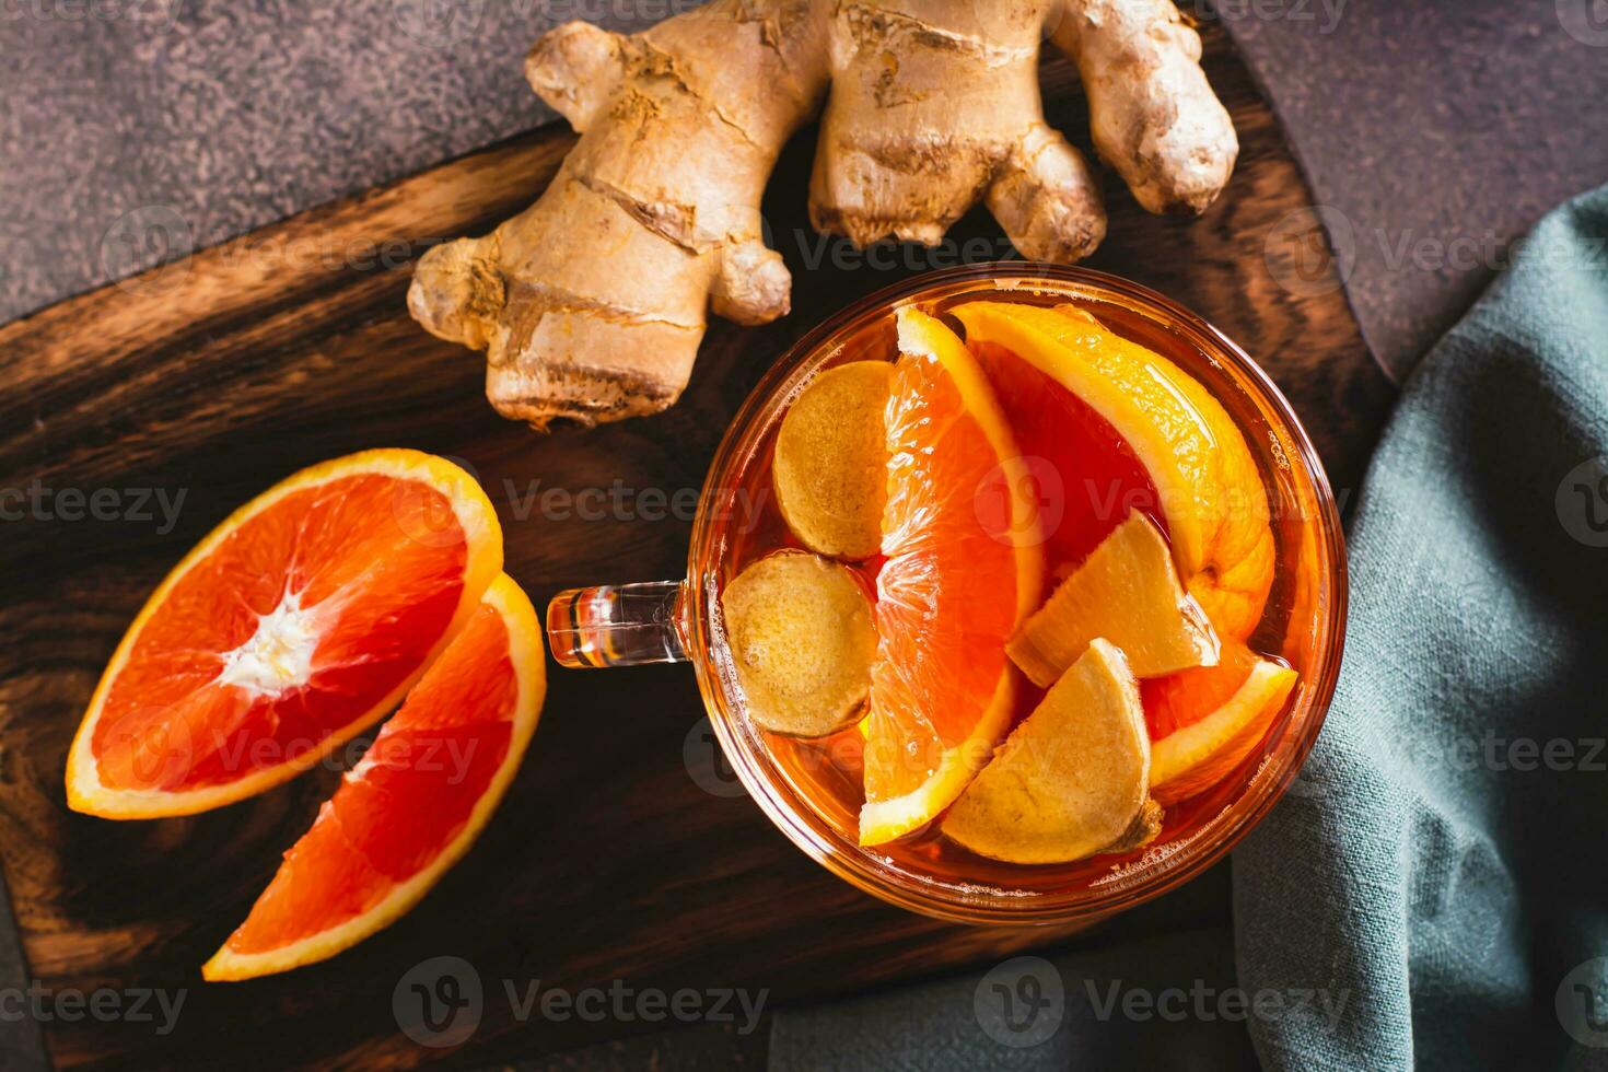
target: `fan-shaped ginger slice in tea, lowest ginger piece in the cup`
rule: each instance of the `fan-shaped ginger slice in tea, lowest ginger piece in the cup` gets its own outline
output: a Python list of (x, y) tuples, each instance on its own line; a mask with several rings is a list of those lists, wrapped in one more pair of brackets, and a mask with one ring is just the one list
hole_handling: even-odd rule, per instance
[(942, 831), (992, 860), (1068, 863), (1127, 852), (1159, 828), (1138, 685), (1122, 653), (1097, 638), (955, 800)]

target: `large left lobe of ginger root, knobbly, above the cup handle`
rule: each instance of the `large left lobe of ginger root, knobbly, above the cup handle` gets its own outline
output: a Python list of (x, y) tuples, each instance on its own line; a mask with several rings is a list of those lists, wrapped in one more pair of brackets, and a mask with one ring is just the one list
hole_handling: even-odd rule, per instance
[(687, 386), (706, 305), (788, 312), (759, 198), (825, 87), (809, 0), (716, 0), (630, 37), (566, 23), (526, 77), (580, 141), (531, 209), (420, 259), (408, 310), (486, 350), (503, 416), (654, 413)]

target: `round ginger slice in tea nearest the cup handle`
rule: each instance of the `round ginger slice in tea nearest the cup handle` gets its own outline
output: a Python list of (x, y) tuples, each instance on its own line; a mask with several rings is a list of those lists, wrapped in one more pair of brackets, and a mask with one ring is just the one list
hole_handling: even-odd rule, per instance
[(846, 566), (809, 551), (769, 554), (725, 587), (720, 609), (759, 726), (818, 738), (862, 714), (876, 627), (865, 587)]

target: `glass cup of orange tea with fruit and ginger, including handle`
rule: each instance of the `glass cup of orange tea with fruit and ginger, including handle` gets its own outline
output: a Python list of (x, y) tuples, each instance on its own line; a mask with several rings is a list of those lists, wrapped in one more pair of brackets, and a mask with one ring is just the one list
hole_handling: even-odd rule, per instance
[(638, 661), (648, 604), (645, 653), (695, 662), (810, 855), (918, 911), (1068, 921), (1196, 873), (1290, 783), (1344, 564), (1311, 444), (1227, 339), (995, 265), (806, 338), (716, 458), (688, 580), (566, 593), (555, 653)]

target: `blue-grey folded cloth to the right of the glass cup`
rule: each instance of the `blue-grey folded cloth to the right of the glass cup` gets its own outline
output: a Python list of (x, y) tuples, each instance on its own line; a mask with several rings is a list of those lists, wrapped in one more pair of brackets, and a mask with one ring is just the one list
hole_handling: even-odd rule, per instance
[[(1275, 1069), (1608, 1067), (1608, 188), (1404, 387), (1328, 722), (1233, 853)], [(1322, 1006), (1317, 1006), (1322, 1008)]]

